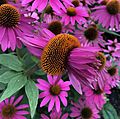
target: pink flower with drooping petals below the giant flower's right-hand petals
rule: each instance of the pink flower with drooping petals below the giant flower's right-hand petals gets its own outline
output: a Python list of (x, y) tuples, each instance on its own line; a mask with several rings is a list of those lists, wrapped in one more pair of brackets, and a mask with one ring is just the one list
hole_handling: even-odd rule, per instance
[(99, 87), (97, 82), (93, 82), (91, 87), (84, 86), (83, 91), (88, 102), (92, 102), (98, 109), (102, 109), (103, 105), (106, 103), (105, 94), (110, 94), (110, 86), (106, 82), (102, 89)]

